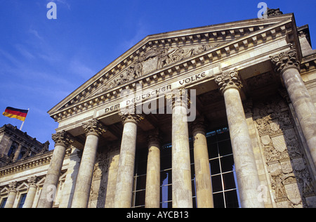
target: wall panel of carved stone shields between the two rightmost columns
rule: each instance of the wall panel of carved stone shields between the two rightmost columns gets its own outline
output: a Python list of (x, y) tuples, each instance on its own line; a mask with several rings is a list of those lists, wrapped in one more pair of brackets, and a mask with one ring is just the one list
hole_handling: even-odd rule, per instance
[(315, 207), (312, 178), (282, 98), (254, 104), (254, 120), (277, 207)]

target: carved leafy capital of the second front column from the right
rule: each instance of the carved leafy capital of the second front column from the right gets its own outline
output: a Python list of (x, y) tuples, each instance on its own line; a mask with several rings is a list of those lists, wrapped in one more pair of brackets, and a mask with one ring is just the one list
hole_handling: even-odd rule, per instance
[(226, 89), (242, 89), (242, 80), (237, 68), (228, 72), (223, 72), (215, 76), (215, 82), (219, 86), (220, 93), (224, 94)]

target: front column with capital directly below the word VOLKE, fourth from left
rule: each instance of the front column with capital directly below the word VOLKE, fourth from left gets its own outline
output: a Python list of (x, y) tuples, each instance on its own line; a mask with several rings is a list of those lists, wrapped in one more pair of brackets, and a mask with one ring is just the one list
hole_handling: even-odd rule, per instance
[(166, 99), (172, 104), (172, 207), (192, 208), (187, 92), (174, 90)]

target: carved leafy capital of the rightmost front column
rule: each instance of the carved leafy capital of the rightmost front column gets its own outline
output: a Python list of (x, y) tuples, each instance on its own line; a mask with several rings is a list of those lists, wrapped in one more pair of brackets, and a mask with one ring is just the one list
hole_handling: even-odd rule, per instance
[(291, 50), (279, 53), (279, 55), (270, 56), (270, 59), (275, 65), (275, 71), (283, 73), (285, 70), (294, 68), (300, 72), (300, 62), (297, 58), (297, 52), (295, 48)]

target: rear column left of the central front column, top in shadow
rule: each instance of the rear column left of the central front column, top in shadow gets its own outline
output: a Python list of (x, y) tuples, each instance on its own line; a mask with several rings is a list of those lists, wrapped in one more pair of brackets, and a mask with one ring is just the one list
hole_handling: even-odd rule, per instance
[(160, 143), (157, 130), (150, 131), (148, 135), (145, 207), (160, 207)]

